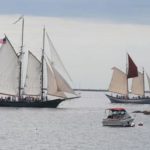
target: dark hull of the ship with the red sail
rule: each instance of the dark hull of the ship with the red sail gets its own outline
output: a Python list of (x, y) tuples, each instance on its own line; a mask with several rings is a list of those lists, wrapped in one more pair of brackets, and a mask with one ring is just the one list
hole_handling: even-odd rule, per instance
[(107, 94), (106, 96), (112, 103), (150, 104), (150, 97), (123, 99), (119, 97), (110, 96)]

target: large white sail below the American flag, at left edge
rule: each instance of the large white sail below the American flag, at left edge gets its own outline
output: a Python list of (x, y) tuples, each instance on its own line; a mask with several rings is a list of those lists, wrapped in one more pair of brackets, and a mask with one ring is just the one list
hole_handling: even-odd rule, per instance
[(0, 93), (17, 95), (19, 85), (18, 56), (6, 37), (0, 48)]

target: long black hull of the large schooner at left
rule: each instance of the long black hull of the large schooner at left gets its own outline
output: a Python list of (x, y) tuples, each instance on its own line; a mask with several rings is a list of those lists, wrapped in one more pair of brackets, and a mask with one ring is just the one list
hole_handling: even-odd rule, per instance
[(39, 107), (39, 108), (56, 108), (64, 99), (50, 101), (0, 101), (0, 107)]

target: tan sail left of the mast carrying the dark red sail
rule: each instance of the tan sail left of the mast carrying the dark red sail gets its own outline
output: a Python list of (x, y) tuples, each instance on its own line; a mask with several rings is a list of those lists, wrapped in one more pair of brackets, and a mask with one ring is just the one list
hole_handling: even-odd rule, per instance
[(109, 91), (127, 95), (127, 75), (120, 69), (113, 67), (113, 76), (109, 86)]

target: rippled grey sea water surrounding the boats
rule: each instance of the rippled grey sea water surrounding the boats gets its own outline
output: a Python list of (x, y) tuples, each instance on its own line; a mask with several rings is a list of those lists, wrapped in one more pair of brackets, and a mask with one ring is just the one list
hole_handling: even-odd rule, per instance
[[(0, 150), (150, 150), (150, 116), (132, 113), (150, 105), (111, 104), (102, 92), (81, 95), (58, 109), (0, 108)], [(109, 107), (125, 107), (135, 127), (103, 127)]]

